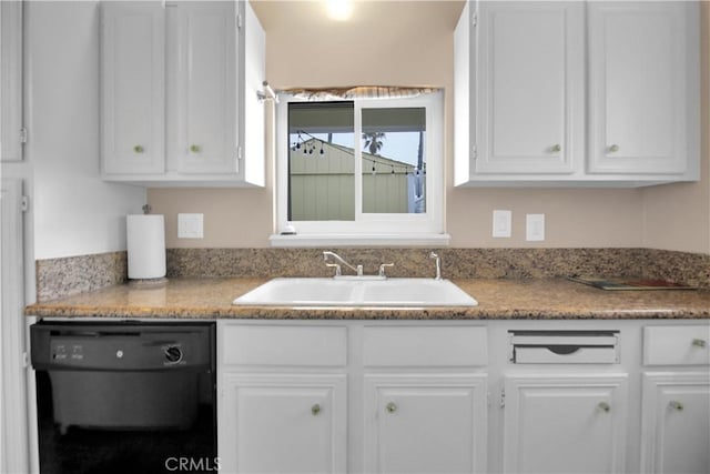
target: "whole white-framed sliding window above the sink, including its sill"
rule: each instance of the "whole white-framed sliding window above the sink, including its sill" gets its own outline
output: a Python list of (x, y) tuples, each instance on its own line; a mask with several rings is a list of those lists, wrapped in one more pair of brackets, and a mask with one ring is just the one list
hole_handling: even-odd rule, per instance
[(443, 92), (282, 94), (275, 246), (442, 245)]

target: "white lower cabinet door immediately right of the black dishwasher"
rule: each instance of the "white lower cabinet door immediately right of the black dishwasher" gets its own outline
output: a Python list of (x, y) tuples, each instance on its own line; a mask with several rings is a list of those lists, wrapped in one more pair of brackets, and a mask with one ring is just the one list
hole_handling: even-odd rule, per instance
[(345, 375), (223, 374), (222, 471), (345, 472)]

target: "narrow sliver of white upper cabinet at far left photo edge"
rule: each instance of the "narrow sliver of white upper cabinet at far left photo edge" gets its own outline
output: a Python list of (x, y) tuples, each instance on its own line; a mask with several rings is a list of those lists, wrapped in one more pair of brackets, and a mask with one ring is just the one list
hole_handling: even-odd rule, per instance
[(22, 161), (22, 1), (0, 2), (0, 161)]

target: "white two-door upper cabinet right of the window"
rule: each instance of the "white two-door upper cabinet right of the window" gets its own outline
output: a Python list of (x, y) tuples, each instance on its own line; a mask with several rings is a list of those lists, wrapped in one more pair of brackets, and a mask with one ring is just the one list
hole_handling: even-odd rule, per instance
[(697, 2), (467, 2), (455, 183), (697, 180), (699, 47)]

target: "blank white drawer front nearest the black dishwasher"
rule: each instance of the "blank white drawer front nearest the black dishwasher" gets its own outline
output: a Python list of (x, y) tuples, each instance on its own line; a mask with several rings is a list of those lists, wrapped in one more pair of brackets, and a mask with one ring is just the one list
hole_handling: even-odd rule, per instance
[(347, 364), (347, 329), (332, 326), (224, 325), (220, 332), (223, 364)]

